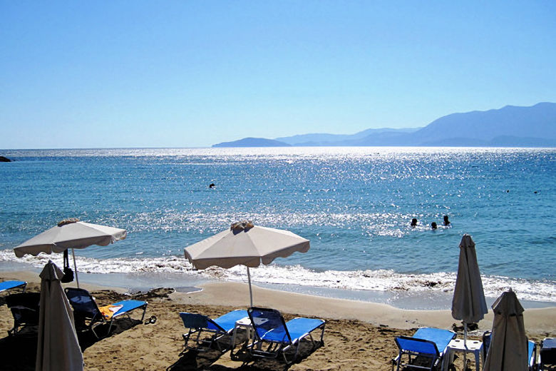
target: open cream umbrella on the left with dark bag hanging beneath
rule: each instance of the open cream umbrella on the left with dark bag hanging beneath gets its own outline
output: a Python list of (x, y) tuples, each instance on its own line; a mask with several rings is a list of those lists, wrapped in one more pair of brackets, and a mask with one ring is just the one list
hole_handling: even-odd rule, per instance
[[(39, 253), (63, 253), (68, 248), (71, 248), (73, 253), (73, 249), (76, 248), (86, 248), (91, 245), (106, 246), (115, 243), (115, 241), (123, 240), (126, 236), (125, 229), (85, 223), (78, 220), (63, 220), (55, 227), (45, 230), (34, 238), (16, 246), (14, 253), (18, 258), (22, 258), (26, 254), (36, 256)], [(74, 253), (73, 268), (76, 271), (77, 287), (79, 287), (76, 255)]]

